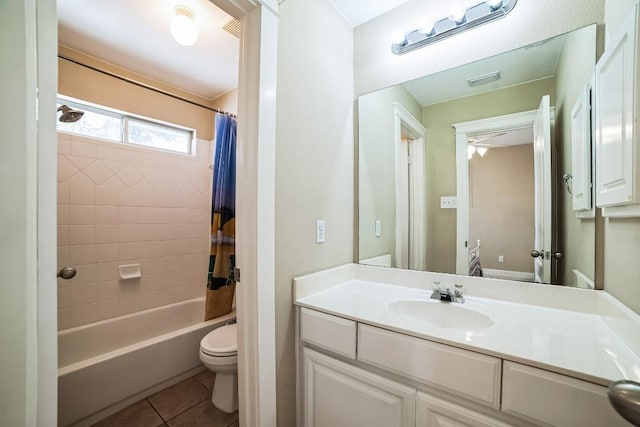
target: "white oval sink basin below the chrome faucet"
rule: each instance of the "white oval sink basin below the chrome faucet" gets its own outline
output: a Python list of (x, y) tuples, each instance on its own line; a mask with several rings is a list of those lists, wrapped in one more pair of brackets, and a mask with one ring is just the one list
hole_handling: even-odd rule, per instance
[(457, 303), (437, 300), (400, 300), (389, 303), (389, 310), (404, 318), (438, 328), (478, 331), (493, 325), (491, 318)]

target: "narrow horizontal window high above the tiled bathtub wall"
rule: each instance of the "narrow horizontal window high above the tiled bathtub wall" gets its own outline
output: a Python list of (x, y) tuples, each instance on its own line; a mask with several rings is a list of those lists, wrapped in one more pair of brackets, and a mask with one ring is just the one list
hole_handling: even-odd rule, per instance
[(195, 139), (193, 129), (59, 97), (58, 107), (61, 105), (81, 110), (84, 115), (76, 122), (58, 121), (59, 131), (184, 154), (193, 153)]

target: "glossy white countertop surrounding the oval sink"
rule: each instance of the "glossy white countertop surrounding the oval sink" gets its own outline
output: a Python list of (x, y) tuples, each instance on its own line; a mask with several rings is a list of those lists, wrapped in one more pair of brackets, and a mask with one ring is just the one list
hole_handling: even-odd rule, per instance
[[(353, 268), (363, 271), (362, 266)], [(402, 276), (403, 273), (396, 274)], [(415, 276), (416, 272), (408, 274)], [(435, 273), (426, 274), (434, 275)], [(295, 304), (415, 337), (555, 371), (604, 386), (620, 379), (640, 380), (640, 357), (631, 349), (636, 347), (629, 345), (629, 339), (635, 339), (635, 333), (640, 331), (640, 323), (637, 316), (634, 316), (635, 313), (614, 316), (615, 319), (612, 319), (610, 316), (589, 309), (554, 308), (546, 307), (539, 302), (535, 305), (513, 302), (513, 298), (511, 298), (512, 301), (504, 301), (474, 296), (474, 294), (483, 293), (476, 287), (474, 288), (476, 292), (465, 295), (464, 304), (430, 300), (431, 303), (450, 304), (482, 313), (492, 321), (490, 326), (473, 331), (451, 329), (434, 326), (390, 309), (390, 303), (398, 300), (429, 300), (431, 295), (429, 289), (362, 280), (354, 277), (358, 274), (349, 273), (342, 276), (347, 280), (336, 279), (335, 273), (333, 278), (327, 276), (328, 282), (333, 281), (333, 283), (327, 283), (326, 286), (319, 285), (322, 283), (321, 273), (313, 275), (306, 281), (305, 278), (296, 279), (296, 287), (310, 284), (313, 291), (309, 293), (297, 289)], [(465, 278), (467, 284), (473, 283), (473, 280), (473, 278)], [(497, 286), (511, 283), (499, 282)], [(478, 283), (482, 285), (482, 289), (487, 289), (487, 294), (495, 294), (495, 291), (491, 292), (492, 281), (484, 280)], [(513, 286), (517, 289), (520, 284)], [(535, 290), (537, 293), (547, 292), (551, 299), (557, 297), (558, 293), (564, 297), (567, 292), (569, 295), (571, 292), (566, 288), (558, 290), (557, 287), (552, 286), (526, 286), (537, 288)], [(584, 297), (585, 294), (580, 295), (583, 298), (591, 297), (590, 295)], [(612, 297), (607, 296), (607, 298)], [(557, 306), (557, 304), (553, 305)], [(597, 305), (597, 303), (593, 304), (593, 306)], [(616, 332), (612, 329), (612, 324)], [(626, 333), (620, 334), (619, 330)]]

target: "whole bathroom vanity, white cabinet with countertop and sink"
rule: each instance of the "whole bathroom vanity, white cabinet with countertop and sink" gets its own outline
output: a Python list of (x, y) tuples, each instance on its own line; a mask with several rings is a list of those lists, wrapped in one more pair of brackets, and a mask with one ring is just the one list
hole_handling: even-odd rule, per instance
[(640, 379), (640, 322), (605, 292), (350, 264), (294, 303), (300, 426), (630, 425), (607, 390)]

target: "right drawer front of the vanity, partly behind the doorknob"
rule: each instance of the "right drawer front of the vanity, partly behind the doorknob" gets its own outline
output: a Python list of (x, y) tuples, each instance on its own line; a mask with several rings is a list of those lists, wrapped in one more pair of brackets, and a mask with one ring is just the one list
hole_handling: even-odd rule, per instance
[(502, 411), (538, 425), (629, 426), (607, 398), (607, 388), (542, 369), (503, 363)]

